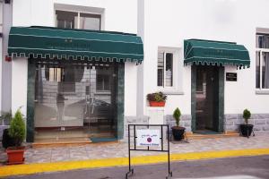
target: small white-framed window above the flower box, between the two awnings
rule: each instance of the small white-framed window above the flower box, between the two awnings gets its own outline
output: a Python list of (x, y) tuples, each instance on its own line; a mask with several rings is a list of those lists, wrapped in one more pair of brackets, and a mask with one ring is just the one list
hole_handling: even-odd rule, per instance
[(157, 85), (173, 87), (174, 82), (174, 53), (165, 50), (158, 51)]

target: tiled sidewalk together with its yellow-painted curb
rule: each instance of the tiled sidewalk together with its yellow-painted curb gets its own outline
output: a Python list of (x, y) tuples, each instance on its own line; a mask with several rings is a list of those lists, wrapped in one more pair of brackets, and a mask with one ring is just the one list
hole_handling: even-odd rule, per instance
[[(269, 135), (258, 135), (249, 139), (233, 137), (192, 140), (189, 143), (170, 143), (170, 152), (172, 161), (269, 155)], [(167, 160), (165, 153), (161, 152), (132, 151), (131, 154), (132, 157), (136, 157), (133, 158), (133, 163), (137, 165), (160, 163)], [(25, 163), (29, 165), (0, 166), (0, 168), (2, 167), (0, 176), (15, 175), (14, 171), (17, 170), (20, 170), (18, 174), (25, 174), (22, 172), (27, 171), (28, 166), (31, 168), (31, 172), (28, 170), (27, 174), (85, 167), (126, 166), (127, 157), (126, 142), (27, 149)], [(6, 160), (4, 149), (1, 149), (0, 160)], [(12, 174), (9, 174), (8, 171)]]

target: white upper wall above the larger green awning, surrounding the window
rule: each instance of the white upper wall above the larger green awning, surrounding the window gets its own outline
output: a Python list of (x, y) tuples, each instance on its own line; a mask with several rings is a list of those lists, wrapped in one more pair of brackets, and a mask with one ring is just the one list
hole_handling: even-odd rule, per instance
[(136, 0), (14, 0), (13, 26), (54, 27), (54, 4), (104, 8), (104, 30), (137, 33)]

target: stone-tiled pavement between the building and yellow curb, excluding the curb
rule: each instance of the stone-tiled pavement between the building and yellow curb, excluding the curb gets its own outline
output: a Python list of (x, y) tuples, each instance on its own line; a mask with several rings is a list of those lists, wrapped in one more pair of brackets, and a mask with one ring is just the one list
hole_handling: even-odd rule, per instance
[[(50, 147), (27, 149), (26, 163), (43, 163), (56, 161), (74, 161), (97, 158), (128, 157), (127, 142), (112, 142), (87, 144), (72, 147)], [(186, 153), (199, 151), (230, 150), (230, 149), (269, 149), (269, 134), (256, 135), (249, 139), (244, 137), (190, 140), (189, 143), (170, 143), (171, 153)], [(158, 155), (161, 152), (132, 151), (132, 156)], [(4, 149), (0, 149), (0, 161), (6, 160)]]

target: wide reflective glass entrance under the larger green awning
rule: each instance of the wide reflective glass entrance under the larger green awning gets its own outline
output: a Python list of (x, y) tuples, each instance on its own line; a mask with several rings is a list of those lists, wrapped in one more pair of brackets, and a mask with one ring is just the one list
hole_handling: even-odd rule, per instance
[(117, 137), (116, 71), (112, 65), (37, 64), (35, 141)]

